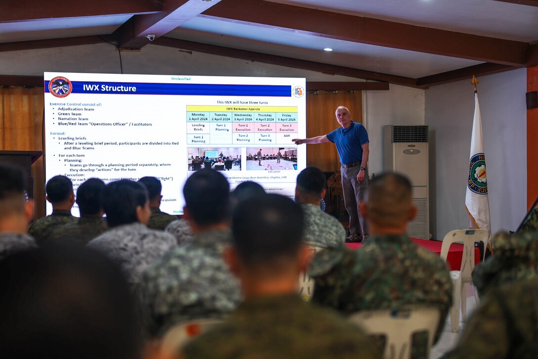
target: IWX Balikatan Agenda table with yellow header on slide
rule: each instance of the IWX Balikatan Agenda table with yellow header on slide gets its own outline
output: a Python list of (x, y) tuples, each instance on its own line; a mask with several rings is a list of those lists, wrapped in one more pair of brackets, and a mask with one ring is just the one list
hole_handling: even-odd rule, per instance
[(187, 144), (289, 144), (298, 134), (294, 106), (187, 106)]

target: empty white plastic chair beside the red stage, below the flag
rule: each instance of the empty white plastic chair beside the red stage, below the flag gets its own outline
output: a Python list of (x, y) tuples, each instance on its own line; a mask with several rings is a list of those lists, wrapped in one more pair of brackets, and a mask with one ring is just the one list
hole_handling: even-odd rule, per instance
[[(462, 321), (467, 321), (467, 295), (465, 285), (472, 285), (471, 272), (475, 268), (475, 242), (483, 241), (484, 250), (489, 239), (487, 230), (454, 230), (447, 233), (441, 246), (441, 258), (447, 261), (448, 250), (452, 243), (463, 243), (462, 265), (459, 271), (450, 271), (452, 279), (452, 307), (450, 308), (450, 329), (459, 332), (459, 308), (462, 309)], [(477, 291), (473, 288), (475, 300), (478, 303)]]

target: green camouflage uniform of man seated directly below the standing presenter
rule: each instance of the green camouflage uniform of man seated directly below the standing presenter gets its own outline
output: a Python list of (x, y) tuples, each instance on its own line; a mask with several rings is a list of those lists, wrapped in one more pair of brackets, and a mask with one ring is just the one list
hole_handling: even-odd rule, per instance
[[(310, 276), (315, 279), (313, 302), (345, 314), (359, 310), (440, 309), (434, 343), (441, 335), (452, 305), (452, 282), (447, 264), (405, 235), (371, 236), (357, 251), (345, 246), (316, 254)], [(427, 357), (425, 335), (413, 336), (413, 358)], [(424, 356), (425, 355), (425, 356)]]

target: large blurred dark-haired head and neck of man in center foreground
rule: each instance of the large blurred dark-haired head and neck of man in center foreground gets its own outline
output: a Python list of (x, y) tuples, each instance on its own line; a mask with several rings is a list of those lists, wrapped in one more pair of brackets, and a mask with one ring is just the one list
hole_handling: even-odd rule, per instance
[(264, 282), (279, 283), (273, 294), (296, 291), (299, 274), (309, 262), (299, 204), (273, 194), (245, 199), (233, 211), (232, 233), (225, 259), (245, 296), (271, 294), (261, 289)]

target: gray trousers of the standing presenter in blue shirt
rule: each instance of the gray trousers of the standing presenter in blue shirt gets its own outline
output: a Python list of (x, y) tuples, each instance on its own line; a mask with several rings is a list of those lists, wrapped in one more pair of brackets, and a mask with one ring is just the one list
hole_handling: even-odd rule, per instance
[(360, 215), (358, 205), (364, 200), (368, 189), (368, 170), (364, 171), (363, 182), (357, 182), (360, 166), (342, 167), (342, 190), (345, 209), (349, 213), (349, 232), (351, 234), (370, 234), (368, 224)]

